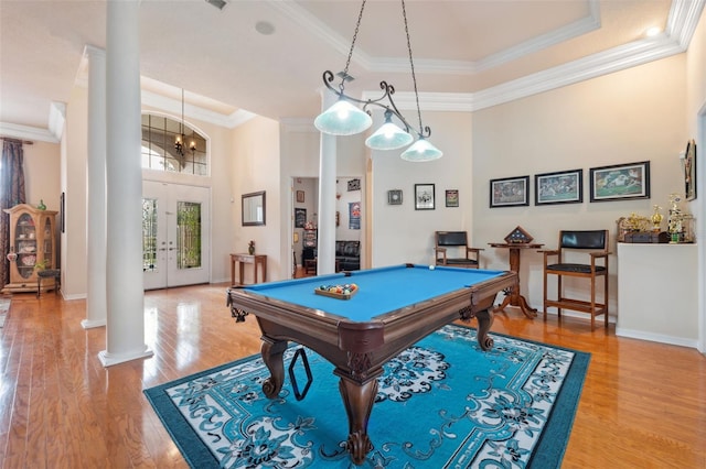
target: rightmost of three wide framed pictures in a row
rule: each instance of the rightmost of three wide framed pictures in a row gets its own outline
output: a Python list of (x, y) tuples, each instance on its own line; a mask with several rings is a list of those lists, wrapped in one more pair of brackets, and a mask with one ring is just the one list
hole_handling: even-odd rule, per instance
[(650, 162), (591, 167), (591, 201), (650, 198)]

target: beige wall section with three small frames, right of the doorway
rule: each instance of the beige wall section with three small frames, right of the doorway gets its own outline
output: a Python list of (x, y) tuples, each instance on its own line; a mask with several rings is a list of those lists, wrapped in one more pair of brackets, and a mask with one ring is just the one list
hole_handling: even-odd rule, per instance
[[(440, 160), (411, 163), (402, 150), (372, 154), (372, 266), (434, 259), (436, 230), (471, 230), (474, 197), (472, 126), (469, 112), (424, 112), (431, 128), (429, 141), (443, 152)], [(415, 209), (415, 184), (435, 185), (435, 209)], [(403, 204), (388, 205), (387, 190), (402, 189)], [(459, 207), (447, 208), (447, 189), (459, 190)]]

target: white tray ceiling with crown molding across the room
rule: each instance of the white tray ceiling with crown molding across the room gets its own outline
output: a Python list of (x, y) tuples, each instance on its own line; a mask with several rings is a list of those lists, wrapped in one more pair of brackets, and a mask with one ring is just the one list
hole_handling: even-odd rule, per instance
[[(227, 1), (141, 0), (143, 101), (179, 113), (184, 88), (188, 114), (225, 126), (243, 110), (312, 119), (323, 70), (345, 66), (361, 2)], [(683, 52), (705, 1), (407, 0), (422, 108), (480, 109)], [(1, 134), (51, 127), (52, 102), (85, 80), (85, 47), (105, 48), (105, 24), (106, 0), (0, 0)], [(663, 33), (648, 39), (652, 26)], [(399, 1), (367, 0), (349, 73), (347, 92), (377, 96), (384, 79), (409, 109)]]

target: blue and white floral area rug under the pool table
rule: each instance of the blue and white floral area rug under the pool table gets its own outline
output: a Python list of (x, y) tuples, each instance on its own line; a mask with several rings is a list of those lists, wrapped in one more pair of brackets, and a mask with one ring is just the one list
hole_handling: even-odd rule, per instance
[[(450, 325), (391, 360), (367, 428), (374, 449), (361, 467), (558, 468), (590, 356), (492, 336), (484, 352), (474, 329)], [(355, 467), (333, 366), (307, 357), (313, 383), (302, 401), (289, 378), (278, 399), (265, 397), (259, 355), (145, 394), (194, 468)]]

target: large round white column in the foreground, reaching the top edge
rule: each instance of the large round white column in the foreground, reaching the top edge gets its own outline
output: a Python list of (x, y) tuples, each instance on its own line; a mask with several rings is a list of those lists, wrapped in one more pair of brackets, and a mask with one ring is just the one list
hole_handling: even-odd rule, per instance
[(107, 2), (107, 327), (104, 367), (150, 357), (145, 343), (139, 0)]

